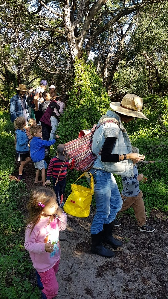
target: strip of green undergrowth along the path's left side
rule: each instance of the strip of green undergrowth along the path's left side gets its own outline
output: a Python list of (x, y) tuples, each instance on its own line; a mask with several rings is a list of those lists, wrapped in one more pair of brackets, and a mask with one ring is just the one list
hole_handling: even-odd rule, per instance
[(31, 283), (35, 274), (24, 249), (24, 216), (19, 210), (27, 191), (23, 182), (9, 176), (15, 170), (14, 126), (8, 112), (0, 111), (0, 294), (5, 299), (37, 299), (39, 289)]

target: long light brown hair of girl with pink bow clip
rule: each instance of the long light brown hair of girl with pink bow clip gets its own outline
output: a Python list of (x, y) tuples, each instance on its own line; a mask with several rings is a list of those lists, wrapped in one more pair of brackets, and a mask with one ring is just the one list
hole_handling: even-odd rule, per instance
[[(30, 234), (33, 231), (35, 225), (39, 222), (42, 214), (42, 206), (39, 205), (39, 202), (42, 205), (47, 205), (55, 197), (54, 190), (47, 187), (35, 187), (30, 193), (30, 201), (27, 205), (27, 208), (30, 212), (30, 216), (27, 219), (27, 226), (30, 228)], [(54, 215), (49, 216), (47, 225), (54, 220)], [(27, 227), (26, 226), (26, 227)]]

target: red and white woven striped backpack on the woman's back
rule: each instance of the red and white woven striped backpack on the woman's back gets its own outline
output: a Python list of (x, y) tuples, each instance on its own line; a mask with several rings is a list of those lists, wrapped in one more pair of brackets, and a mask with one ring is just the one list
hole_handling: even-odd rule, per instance
[[(106, 122), (118, 124), (117, 120), (113, 119), (104, 121), (100, 126)], [(92, 152), (92, 139), (93, 134), (98, 127), (94, 124), (91, 132), (87, 135), (65, 143), (65, 151), (69, 157), (70, 169), (80, 171), (88, 171), (91, 169), (94, 164), (94, 160), (97, 158), (97, 156)]]

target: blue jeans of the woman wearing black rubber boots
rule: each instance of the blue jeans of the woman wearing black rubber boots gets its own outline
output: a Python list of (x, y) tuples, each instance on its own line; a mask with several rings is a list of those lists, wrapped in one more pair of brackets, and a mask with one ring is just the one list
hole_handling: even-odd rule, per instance
[[(94, 173), (95, 169), (91, 168), (89, 171)], [(91, 234), (98, 234), (103, 230), (104, 223), (109, 224), (115, 219), (123, 201), (112, 173), (97, 169), (94, 179), (97, 181), (94, 184), (96, 214), (91, 225)]]

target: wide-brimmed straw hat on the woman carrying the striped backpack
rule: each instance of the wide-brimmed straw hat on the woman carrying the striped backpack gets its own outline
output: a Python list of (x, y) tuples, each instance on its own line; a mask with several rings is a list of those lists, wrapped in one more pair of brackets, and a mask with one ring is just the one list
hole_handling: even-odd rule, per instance
[(143, 99), (135, 94), (126, 94), (121, 103), (111, 102), (110, 107), (123, 115), (149, 120), (142, 112)]

